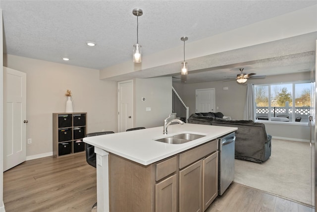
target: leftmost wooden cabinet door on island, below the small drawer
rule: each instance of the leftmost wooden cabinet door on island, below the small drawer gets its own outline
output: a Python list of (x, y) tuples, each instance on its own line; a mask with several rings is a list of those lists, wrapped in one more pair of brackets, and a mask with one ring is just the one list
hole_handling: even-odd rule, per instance
[(177, 212), (177, 175), (155, 185), (155, 211)]

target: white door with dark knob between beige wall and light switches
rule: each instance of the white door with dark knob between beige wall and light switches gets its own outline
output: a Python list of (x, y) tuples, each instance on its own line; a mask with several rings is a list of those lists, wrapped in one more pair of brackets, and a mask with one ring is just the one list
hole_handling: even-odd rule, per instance
[(118, 131), (133, 128), (133, 81), (118, 82)]

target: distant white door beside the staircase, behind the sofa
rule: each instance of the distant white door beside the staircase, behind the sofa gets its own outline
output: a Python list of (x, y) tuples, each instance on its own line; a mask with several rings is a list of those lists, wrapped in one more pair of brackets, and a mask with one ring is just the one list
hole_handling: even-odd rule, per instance
[(196, 113), (214, 112), (215, 91), (210, 89), (196, 90)]

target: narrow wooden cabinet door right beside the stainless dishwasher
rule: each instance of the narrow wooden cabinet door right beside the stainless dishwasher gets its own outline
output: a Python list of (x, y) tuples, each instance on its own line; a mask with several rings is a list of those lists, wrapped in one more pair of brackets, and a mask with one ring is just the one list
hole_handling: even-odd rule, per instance
[(203, 164), (203, 211), (205, 211), (218, 196), (218, 151), (206, 157)]

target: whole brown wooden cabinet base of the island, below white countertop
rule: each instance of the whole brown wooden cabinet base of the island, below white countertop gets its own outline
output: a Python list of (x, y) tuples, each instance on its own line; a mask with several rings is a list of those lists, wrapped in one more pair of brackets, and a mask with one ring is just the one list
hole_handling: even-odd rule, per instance
[(217, 196), (218, 140), (141, 165), (109, 153), (111, 212), (203, 212)]

